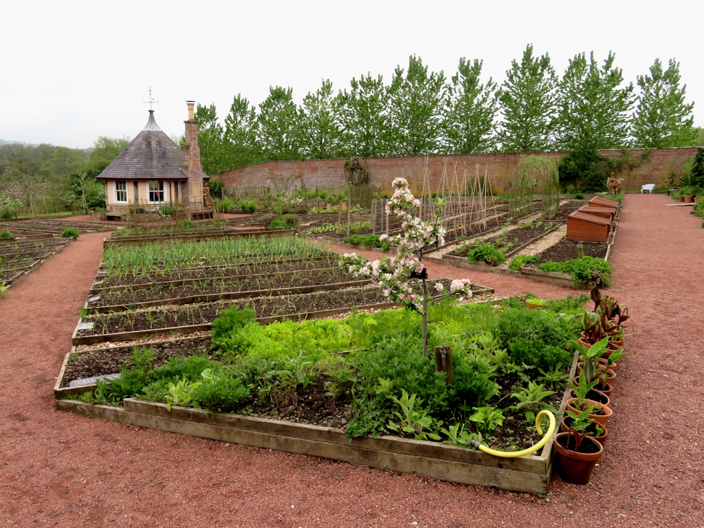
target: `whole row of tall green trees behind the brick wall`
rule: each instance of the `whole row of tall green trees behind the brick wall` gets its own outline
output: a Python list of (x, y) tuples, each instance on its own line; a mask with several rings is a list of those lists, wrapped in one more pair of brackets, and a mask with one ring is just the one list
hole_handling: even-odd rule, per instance
[(528, 45), (498, 84), (483, 61), (460, 58), (451, 77), (419, 56), (381, 75), (354, 77), (334, 92), (323, 80), (300, 105), (291, 87), (270, 87), (258, 104), (237, 94), (224, 124), (199, 105), (199, 144), (208, 174), (265, 161), (690, 146), (693, 103), (679, 63), (656, 59), (625, 82), (609, 53), (576, 54), (558, 77), (548, 54)]

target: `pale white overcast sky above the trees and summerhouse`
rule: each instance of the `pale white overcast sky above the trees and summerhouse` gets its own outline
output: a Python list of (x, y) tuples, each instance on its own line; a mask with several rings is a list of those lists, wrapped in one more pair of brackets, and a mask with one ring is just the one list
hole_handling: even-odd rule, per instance
[(323, 79), (382, 75), (422, 58), (451, 77), (460, 57), (484, 61), (501, 84), (527, 44), (559, 76), (575, 54), (609, 51), (624, 80), (655, 58), (680, 63), (694, 125), (704, 126), (704, 68), (695, 1), (13, 1), (0, 8), (0, 138), (87, 148), (99, 136), (135, 137), (151, 87), (156, 122), (183, 133), (185, 101), (215, 103), (224, 119), (236, 94), (259, 104), (269, 87), (301, 103)]

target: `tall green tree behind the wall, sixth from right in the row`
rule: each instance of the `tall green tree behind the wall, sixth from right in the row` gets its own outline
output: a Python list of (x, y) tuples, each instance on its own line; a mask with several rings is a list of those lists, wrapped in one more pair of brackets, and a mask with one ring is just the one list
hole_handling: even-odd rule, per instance
[(341, 126), (341, 154), (376, 158), (389, 151), (389, 94), (381, 75), (367, 73), (350, 81), (350, 91), (338, 92), (336, 106)]

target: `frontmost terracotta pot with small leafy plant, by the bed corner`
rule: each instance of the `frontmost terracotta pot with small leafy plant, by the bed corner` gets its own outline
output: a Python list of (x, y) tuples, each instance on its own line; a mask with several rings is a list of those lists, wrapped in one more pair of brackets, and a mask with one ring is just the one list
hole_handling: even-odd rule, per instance
[(571, 411), (568, 413), (572, 418), (570, 430), (555, 435), (554, 446), (560, 460), (560, 474), (566, 482), (586, 484), (604, 448), (587, 433), (587, 428), (593, 425), (589, 410), (579, 414)]

